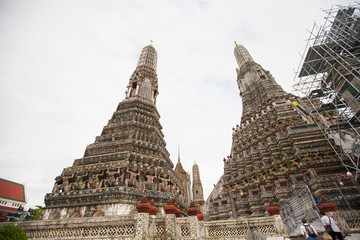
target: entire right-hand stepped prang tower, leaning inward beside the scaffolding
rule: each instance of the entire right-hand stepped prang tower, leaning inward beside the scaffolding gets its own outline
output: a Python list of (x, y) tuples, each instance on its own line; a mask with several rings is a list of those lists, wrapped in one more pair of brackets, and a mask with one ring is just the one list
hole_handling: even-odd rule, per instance
[[(310, 102), (285, 92), (245, 47), (235, 43), (234, 54), (243, 114), (224, 158), (222, 186), (216, 186), (221, 189), (205, 204), (206, 218), (265, 216), (270, 200), (280, 206), (304, 186), (314, 196), (339, 194), (334, 181), (346, 172), (349, 159), (339, 159), (318, 120), (307, 113)], [(331, 121), (331, 115), (321, 117)], [(350, 205), (358, 206), (359, 184), (351, 184), (356, 191), (340, 189)]]

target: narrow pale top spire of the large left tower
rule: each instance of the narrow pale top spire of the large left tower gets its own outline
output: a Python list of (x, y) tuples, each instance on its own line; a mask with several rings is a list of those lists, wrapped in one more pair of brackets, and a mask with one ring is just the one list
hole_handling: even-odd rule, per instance
[(127, 86), (126, 98), (140, 97), (156, 104), (158, 82), (156, 75), (157, 52), (152, 45), (141, 51), (138, 64)]

